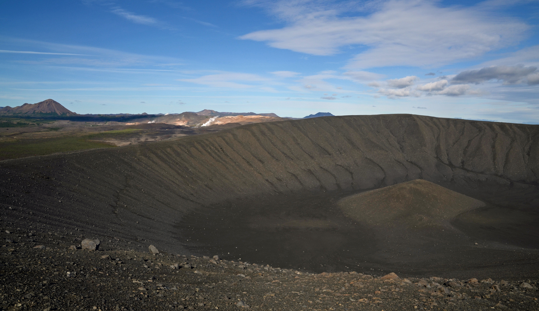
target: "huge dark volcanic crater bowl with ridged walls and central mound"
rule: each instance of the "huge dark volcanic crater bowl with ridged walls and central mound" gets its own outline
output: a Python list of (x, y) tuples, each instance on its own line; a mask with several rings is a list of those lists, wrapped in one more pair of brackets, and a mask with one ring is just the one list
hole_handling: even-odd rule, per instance
[(328, 116), (3, 161), (0, 204), (5, 219), (135, 250), (531, 278), (538, 173), (536, 125)]

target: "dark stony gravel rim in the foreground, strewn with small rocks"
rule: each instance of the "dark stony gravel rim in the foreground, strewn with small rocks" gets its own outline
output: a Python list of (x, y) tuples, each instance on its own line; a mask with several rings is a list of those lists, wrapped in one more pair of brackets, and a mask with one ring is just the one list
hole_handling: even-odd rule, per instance
[(3, 241), (12, 241), (0, 247), (0, 310), (242, 310), (242, 302), (270, 311), (539, 308), (536, 280), (311, 274), (205, 256), (150, 254), (120, 241), (102, 241), (98, 251), (73, 250), (68, 247), (80, 244), (80, 233), (19, 225), (3, 226), (0, 233)]

